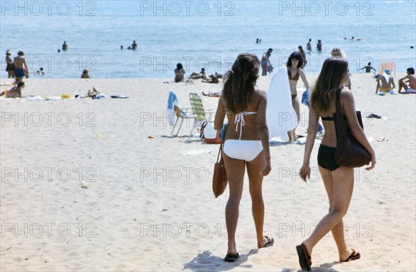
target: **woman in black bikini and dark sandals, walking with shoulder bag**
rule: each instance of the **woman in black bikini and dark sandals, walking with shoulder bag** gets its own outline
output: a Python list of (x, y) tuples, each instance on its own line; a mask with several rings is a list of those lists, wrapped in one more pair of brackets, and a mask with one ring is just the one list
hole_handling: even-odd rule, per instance
[(336, 132), (333, 121), (333, 113), (336, 111), (335, 93), (340, 91), (340, 102), (343, 116), (345, 116), (349, 128), (358, 140), (372, 156), (371, 165), (366, 170), (371, 170), (376, 165), (376, 156), (370, 143), (358, 124), (354, 97), (352, 92), (343, 89), (348, 82), (348, 62), (345, 58), (329, 58), (325, 60), (322, 71), (316, 80), (315, 88), (311, 93), (311, 106), (309, 107), (309, 133), (306, 138), (304, 162), (300, 169), (300, 177), (306, 181), (311, 175), (309, 158), (315, 141), (318, 128), (318, 119), (322, 118), (325, 134), (318, 151), (318, 166), (324, 181), (329, 198), (329, 213), (325, 215), (312, 235), (297, 246), (297, 254), (302, 269), (311, 269), (311, 254), (313, 247), (326, 235), (329, 230), (338, 247), (340, 262), (349, 262), (361, 257), (358, 251), (349, 249), (345, 244), (343, 217), (347, 213), (354, 188), (354, 168), (337, 165), (334, 158), (336, 149)]

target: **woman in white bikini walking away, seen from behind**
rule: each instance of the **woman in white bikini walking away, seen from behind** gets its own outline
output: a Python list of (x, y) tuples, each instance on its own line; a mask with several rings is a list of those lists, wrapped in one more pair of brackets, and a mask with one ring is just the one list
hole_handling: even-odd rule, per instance
[(235, 234), (246, 167), (257, 247), (269, 247), (275, 242), (274, 239), (263, 235), (264, 203), (261, 184), (263, 176), (270, 173), (271, 167), (266, 124), (267, 95), (256, 86), (259, 66), (256, 55), (242, 53), (237, 57), (231, 71), (225, 75), (224, 88), (215, 116), (216, 130), (223, 126), (225, 114), (229, 120), (223, 149), (229, 184), (229, 199), (225, 208), (228, 235), (225, 262), (234, 262), (239, 257)]

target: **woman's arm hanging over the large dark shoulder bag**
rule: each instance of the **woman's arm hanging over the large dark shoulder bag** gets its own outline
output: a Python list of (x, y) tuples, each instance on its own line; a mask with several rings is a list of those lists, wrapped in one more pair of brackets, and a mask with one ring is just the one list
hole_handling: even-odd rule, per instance
[(343, 113), (347, 118), (347, 123), (349, 129), (352, 132), (352, 135), (356, 138), (356, 140), (358, 140), (358, 143), (361, 143), (361, 145), (363, 145), (363, 147), (367, 149), (367, 151), (371, 155), (371, 166), (367, 167), (366, 170), (372, 170), (372, 168), (374, 168), (374, 166), (376, 165), (376, 154), (374, 153), (372, 146), (368, 142), (367, 137), (365, 136), (364, 131), (360, 126), (360, 123), (358, 123), (354, 96), (352, 96), (351, 91), (341, 91), (340, 98), (341, 107), (343, 108)]

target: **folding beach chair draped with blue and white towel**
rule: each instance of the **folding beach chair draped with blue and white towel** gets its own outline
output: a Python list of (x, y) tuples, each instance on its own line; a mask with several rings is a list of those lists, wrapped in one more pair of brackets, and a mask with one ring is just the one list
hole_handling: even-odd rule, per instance
[[(169, 91), (167, 117), (169, 125), (172, 126), (171, 137), (176, 137), (177, 134), (179, 134), (185, 119), (193, 119), (195, 117), (188, 112), (190, 109), (191, 108), (180, 107), (175, 92)], [(175, 129), (177, 129), (177, 131), (176, 134), (173, 135)]]

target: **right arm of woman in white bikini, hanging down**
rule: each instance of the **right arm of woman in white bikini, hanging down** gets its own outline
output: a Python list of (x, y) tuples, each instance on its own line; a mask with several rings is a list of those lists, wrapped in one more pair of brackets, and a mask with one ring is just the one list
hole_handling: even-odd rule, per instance
[(259, 91), (259, 105), (257, 107), (257, 131), (259, 132), (261, 145), (263, 145), (263, 152), (266, 158), (266, 165), (260, 172), (262, 176), (267, 176), (272, 170), (272, 167), (270, 165), (270, 147), (268, 127), (266, 122), (266, 107), (267, 93), (266, 91)]

